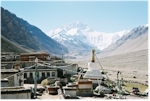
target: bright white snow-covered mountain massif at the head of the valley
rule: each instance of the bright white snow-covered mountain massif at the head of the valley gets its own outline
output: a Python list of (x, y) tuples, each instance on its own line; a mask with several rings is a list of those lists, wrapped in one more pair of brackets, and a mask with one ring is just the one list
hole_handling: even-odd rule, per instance
[(116, 33), (98, 32), (88, 25), (76, 21), (51, 30), (47, 35), (68, 47), (70, 51), (91, 51), (93, 48), (96, 50), (105, 49), (128, 32), (126, 30)]

